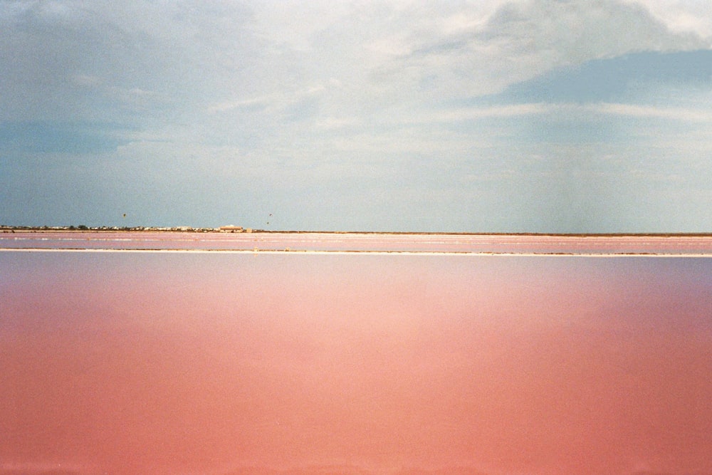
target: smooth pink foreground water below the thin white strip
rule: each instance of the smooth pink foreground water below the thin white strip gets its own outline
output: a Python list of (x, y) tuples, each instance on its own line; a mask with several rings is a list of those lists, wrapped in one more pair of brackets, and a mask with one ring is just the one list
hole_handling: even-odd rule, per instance
[(712, 473), (712, 259), (0, 253), (0, 474)]

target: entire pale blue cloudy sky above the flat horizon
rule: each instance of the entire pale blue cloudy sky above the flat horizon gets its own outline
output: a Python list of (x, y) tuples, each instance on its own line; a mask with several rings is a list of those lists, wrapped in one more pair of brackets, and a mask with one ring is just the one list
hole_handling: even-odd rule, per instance
[(707, 0), (0, 0), (0, 224), (705, 232), (709, 137)]

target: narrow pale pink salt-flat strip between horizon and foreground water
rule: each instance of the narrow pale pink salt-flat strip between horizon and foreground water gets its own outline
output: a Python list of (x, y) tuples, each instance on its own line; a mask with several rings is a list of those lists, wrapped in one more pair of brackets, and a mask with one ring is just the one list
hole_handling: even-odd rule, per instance
[(706, 234), (392, 234), (41, 230), (0, 233), (0, 250), (712, 256)]

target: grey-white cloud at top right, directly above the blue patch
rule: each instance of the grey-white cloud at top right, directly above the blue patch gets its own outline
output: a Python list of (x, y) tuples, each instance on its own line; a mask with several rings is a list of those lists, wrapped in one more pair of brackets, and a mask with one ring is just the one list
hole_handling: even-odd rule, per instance
[(478, 62), (503, 83), (632, 51), (706, 46), (701, 38), (672, 33), (641, 6), (614, 0), (513, 1), (472, 41), (498, 46)]

